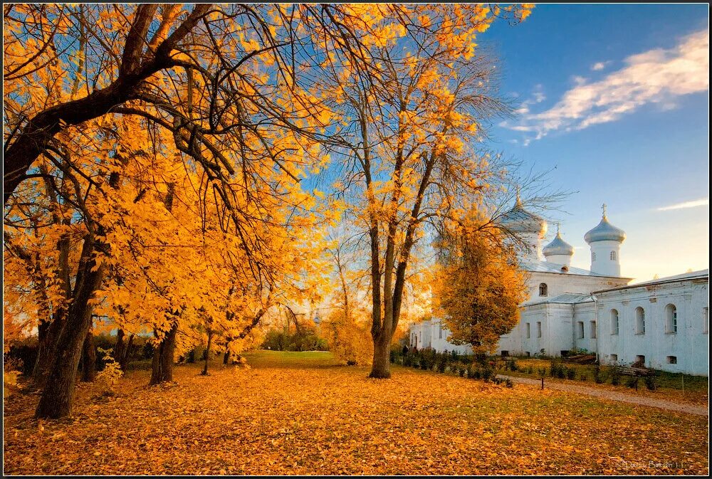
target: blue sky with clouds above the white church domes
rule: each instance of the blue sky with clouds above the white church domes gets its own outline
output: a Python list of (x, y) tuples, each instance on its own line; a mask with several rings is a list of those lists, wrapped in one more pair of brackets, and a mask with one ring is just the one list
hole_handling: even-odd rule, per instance
[(517, 117), (494, 125), (493, 146), (555, 168), (551, 186), (576, 191), (546, 212), (547, 240), (560, 221), (572, 264), (588, 268), (583, 236), (605, 202), (627, 232), (623, 275), (708, 268), (706, 4), (539, 5), (478, 41), (499, 58), (502, 93), (520, 102)]

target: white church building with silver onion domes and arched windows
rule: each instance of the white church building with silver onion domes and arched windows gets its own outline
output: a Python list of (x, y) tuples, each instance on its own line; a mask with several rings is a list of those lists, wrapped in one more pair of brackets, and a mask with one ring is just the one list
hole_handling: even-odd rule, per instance
[[(520, 199), (500, 220), (528, 244), (520, 267), (528, 272), (529, 298), (520, 321), (500, 337), (497, 352), (560, 356), (571, 349), (597, 354), (602, 364), (643, 362), (669, 372), (708, 376), (709, 270), (629, 285), (620, 275), (625, 232), (609, 223), (604, 205), (598, 225), (584, 236), (590, 270), (574, 268), (574, 248), (557, 231), (542, 248), (547, 223), (526, 211)], [(447, 341), (439, 319), (410, 327), (412, 346), (471, 352)]]

